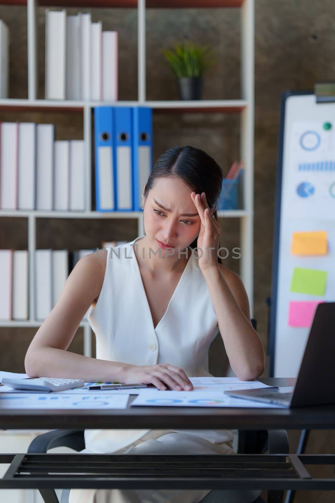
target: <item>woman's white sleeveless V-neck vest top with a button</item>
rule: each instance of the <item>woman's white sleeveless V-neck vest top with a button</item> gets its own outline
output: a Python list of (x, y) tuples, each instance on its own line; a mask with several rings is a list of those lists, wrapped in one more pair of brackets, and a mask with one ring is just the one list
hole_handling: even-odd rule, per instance
[[(134, 245), (141, 239), (107, 248), (101, 291), (88, 321), (95, 333), (96, 359), (156, 365), (169, 363), (188, 377), (211, 376), (208, 349), (218, 333), (216, 313), (198, 258), (188, 247), (188, 261), (167, 309), (154, 328)], [(136, 426), (136, 425), (134, 425)], [(187, 432), (213, 444), (231, 441), (232, 430)], [(86, 449), (115, 452), (150, 430), (85, 430)]]

